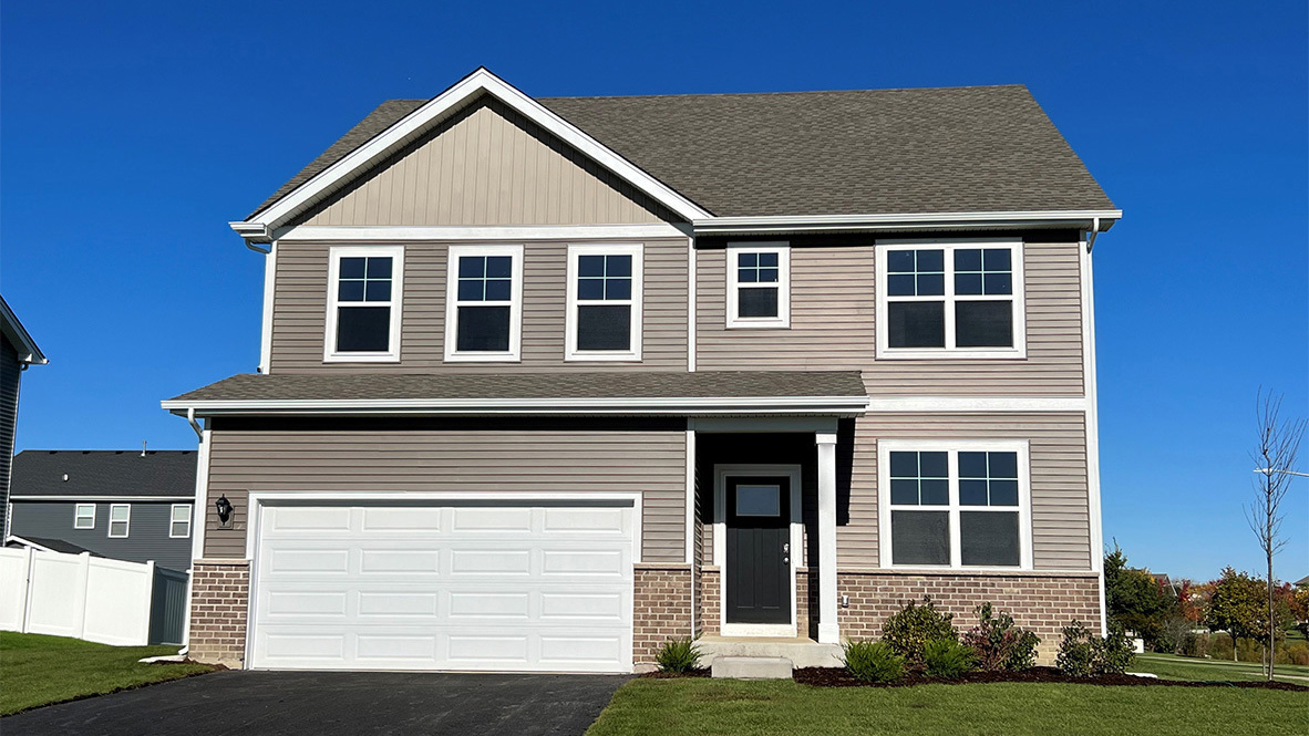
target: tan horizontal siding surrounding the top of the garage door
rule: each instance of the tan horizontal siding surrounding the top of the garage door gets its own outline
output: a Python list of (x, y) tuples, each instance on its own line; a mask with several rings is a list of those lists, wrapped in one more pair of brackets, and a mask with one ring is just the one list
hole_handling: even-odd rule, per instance
[(643, 562), (686, 560), (686, 435), (674, 429), (215, 430), (204, 556), (245, 558), (249, 492), (641, 493)]

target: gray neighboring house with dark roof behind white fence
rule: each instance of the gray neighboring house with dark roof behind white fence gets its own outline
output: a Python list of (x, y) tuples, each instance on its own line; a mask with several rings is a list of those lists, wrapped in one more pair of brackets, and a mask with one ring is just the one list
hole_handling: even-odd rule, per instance
[(13, 458), (8, 544), (90, 552), (186, 573), (194, 450), (24, 450)]

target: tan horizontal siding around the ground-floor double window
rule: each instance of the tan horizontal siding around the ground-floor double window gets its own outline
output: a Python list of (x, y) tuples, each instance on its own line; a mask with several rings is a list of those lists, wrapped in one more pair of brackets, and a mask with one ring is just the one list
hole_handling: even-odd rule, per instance
[(857, 420), (851, 520), (836, 529), (842, 566), (877, 565), (878, 438), (1028, 439), (1033, 563), (1038, 570), (1090, 567), (1086, 426), (1081, 413), (877, 413)]

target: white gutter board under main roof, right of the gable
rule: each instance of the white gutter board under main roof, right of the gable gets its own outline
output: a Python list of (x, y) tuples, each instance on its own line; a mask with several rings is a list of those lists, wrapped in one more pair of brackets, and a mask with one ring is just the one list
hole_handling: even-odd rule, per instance
[(1073, 209), (1030, 212), (931, 212), (882, 214), (776, 214), (761, 217), (708, 217), (691, 222), (696, 235), (791, 233), (796, 230), (906, 230), (914, 227), (1021, 227), (1090, 225), (1109, 230), (1121, 220), (1121, 209)]

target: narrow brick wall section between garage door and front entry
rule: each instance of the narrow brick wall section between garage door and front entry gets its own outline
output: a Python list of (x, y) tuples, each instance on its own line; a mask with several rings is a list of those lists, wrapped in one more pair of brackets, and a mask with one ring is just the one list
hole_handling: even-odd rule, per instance
[(632, 663), (652, 664), (664, 642), (691, 635), (691, 567), (637, 565), (634, 575)]

